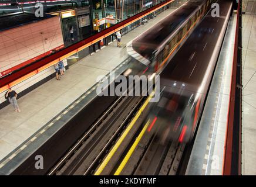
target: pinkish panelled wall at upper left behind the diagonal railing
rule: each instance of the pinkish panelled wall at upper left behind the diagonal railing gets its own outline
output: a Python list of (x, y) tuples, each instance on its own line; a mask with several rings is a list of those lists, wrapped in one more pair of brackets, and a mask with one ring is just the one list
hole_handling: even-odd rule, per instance
[(63, 44), (59, 17), (0, 32), (0, 72)]

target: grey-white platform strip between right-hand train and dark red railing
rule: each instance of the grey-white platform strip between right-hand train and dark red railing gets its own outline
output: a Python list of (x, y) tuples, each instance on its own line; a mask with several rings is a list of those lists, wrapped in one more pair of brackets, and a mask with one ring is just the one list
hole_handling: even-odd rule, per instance
[(221, 175), (230, 97), (236, 14), (231, 16), (218, 57), (213, 81), (196, 140), (188, 162), (187, 175)]

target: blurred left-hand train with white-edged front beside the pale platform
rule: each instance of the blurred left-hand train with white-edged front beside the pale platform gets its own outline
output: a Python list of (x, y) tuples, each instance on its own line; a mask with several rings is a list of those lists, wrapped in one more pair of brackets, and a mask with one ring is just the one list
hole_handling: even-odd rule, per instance
[[(145, 68), (160, 73), (200, 23), (215, 0), (190, 0), (169, 16), (127, 43), (127, 53)], [(143, 65), (141, 65), (143, 64)]]

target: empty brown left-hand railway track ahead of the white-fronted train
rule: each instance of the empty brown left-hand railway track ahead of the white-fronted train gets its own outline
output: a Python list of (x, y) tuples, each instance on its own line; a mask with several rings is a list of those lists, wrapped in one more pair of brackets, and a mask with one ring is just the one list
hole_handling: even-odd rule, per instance
[[(123, 95), (116, 99), (48, 175), (92, 175), (94, 173), (147, 98), (147, 96), (127, 96), (126, 93), (130, 89), (133, 89), (133, 86), (130, 85)], [(131, 138), (139, 127), (140, 123), (134, 126), (129, 134)], [(125, 141), (129, 144), (129, 138)]]

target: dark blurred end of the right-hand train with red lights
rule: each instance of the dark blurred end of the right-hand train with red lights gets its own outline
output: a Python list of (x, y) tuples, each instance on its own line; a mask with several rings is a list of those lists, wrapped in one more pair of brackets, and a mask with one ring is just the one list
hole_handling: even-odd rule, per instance
[(159, 136), (163, 144), (167, 141), (188, 143), (194, 136), (204, 95), (192, 91), (193, 85), (183, 82), (160, 79), (160, 85), (160, 100), (153, 104), (147, 117), (150, 131)]

